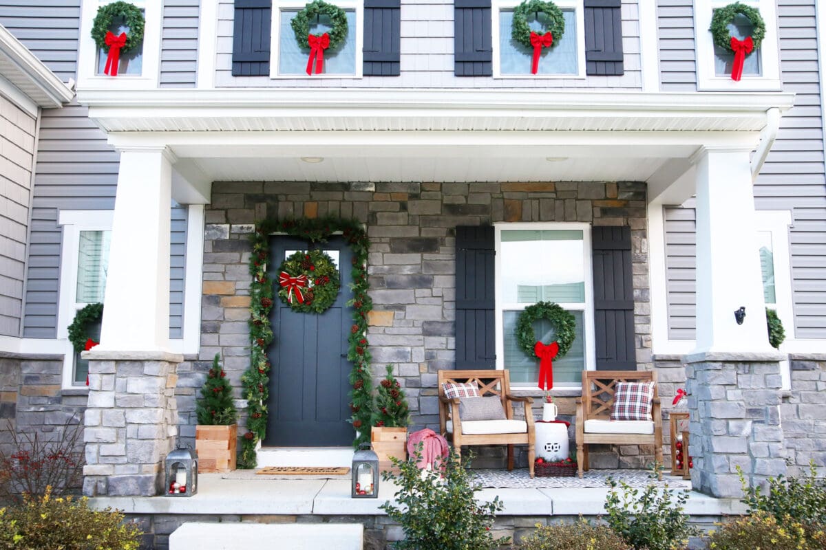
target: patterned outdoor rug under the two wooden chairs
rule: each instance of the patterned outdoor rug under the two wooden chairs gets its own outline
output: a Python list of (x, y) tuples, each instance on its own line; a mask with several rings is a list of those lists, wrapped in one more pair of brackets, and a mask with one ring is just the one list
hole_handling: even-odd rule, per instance
[(581, 487), (608, 487), (608, 477), (622, 480), (631, 487), (645, 487), (648, 482), (655, 482), (657, 486), (666, 483), (672, 489), (691, 489), (691, 481), (680, 477), (662, 476), (662, 482), (652, 480), (644, 470), (591, 470), (585, 472), (582, 479), (573, 477), (534, 477), (531, 479), (528, 468), (519, 468), (511, 472), (507, 470), (475, 470), (475, 481), (482, 487), (495, 488), (525, 488), (525, 489), (563, 489)]

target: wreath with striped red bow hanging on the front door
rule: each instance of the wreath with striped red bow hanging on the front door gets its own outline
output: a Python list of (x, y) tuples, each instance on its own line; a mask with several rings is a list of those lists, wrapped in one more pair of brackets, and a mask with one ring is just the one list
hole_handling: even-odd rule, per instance
[[(306, 279), (303, 284), (288, 284), (282, 274)], [(278, 297), (294, 311), (324, 313), (339, 296), (339, 270), (325, 251), (297, 251), (278, 268)]]

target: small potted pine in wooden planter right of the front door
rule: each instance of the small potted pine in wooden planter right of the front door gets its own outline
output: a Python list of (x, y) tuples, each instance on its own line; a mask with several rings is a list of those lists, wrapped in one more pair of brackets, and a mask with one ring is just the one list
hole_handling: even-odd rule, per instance
[(407, 426), (410, 425), (410, 408), (401, 384), (393, 376), (393, 368), (387, 365), (387, 375), (378, 385), (373, 408), (370, 440), (378, 455), (378, 468), (398, 472), (391, 457), (403, 461), (407, 458)]

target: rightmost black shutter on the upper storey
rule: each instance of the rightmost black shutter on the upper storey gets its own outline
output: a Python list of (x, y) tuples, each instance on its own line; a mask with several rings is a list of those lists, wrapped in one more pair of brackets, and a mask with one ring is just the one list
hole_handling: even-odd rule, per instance
[(621, 0), (585, 0), (585, 67), (587, 74), (621, 75)]

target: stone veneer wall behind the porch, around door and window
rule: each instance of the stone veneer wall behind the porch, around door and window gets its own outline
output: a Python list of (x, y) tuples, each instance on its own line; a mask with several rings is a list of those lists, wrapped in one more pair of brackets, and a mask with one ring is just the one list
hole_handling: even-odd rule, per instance
[[(216, 353), (235, 388), (249, 361), (249, 241), (265, 217), (333, 214), (363, 221), (372, 242), (368, 339), (373, 367), (394, 364), (406, 388), (413, 428), (438, 426), (436, 373), (454, 368), (455, 227), (496, 222), (586, 222), (629, 225), (639, 369), (653, 368), (648, 304), (645, 185), (620, 183), (216, 182), (206, 211), (202, 347), (178, 368), (181, 435), (194, 436), (194, 396)], [(535, 395), (539, 395), (537, 392)], [(236, 389), (236, 396), (240, 397)], [(558, 399), (572, 418), (573, 398)], [(535, 403), (539, 407), (539, 402)], [(243, 420), (242, 420), (243, 422)], [(573, 432), (571, 432), (573, 437)], [(622, 463), (648, 462), (639, 449), (620, 449)], [(598, 468), (615, 453), (594, 449)]]

